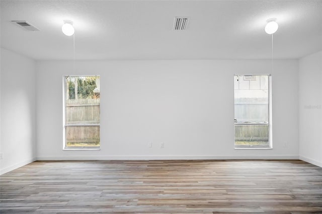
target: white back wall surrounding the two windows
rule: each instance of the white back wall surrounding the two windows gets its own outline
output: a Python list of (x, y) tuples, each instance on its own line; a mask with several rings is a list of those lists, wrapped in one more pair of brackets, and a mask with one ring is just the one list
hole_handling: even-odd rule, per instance
[[(296, 159), (298, 63), (274, 64), (274, 149), (235, 150), (233, 75), (269, 74), (270, 60), (38, 61), (37, 158)], [(62, 150), (63, 75), (101, 75), (100, 151)]]

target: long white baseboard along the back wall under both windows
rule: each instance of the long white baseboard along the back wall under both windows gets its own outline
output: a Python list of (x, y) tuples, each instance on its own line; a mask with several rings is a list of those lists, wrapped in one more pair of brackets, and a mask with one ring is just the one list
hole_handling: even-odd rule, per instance
[(88, 160), (298, 160), (298, 156), (40, 156), (39, 161)]

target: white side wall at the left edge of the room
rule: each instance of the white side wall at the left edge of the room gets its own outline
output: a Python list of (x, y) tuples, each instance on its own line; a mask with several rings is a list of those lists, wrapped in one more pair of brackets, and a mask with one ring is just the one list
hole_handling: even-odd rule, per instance
[(0, 174), (36, 158), (35, 62), (1, 48)]

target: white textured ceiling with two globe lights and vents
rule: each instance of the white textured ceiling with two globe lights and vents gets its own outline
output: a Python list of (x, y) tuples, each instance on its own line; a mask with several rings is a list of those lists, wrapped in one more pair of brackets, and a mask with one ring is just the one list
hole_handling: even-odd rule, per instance
[[(190, 17), (173, 31), (175, 16)], [(1, 1), (1, 46), (37, 60), (271, 58), (266, 20), (277, 18), (274, 58), (321, 50), (322, 1)], [(25, 20), (40, 31), (24, 31)]]

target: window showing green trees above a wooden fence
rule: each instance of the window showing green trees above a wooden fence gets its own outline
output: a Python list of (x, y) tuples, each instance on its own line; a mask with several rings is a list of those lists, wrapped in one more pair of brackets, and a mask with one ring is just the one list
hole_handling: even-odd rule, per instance
[(63, 148), (100, 148), (100, 77), (67, 76), (63, 81)]

